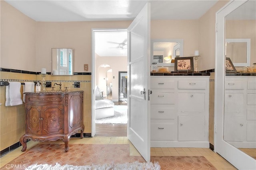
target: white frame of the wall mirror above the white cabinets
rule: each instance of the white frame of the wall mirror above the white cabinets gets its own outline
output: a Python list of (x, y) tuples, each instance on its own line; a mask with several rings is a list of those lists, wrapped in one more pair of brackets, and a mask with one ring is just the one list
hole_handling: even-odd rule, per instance
[[(153, 53), (154, 53), (154, 43), (180, 43), (180, 57), (183, 57), (183, 39), (151, 39), (151, 48), (150, 48), (150, 63), (153, 61)], [(175, 47), (175, 46), (174, 46)], [(174, 58), (173, 58), (174, 59)], [(174, 63), (157, 63), (157, 66), (174, 66)]]

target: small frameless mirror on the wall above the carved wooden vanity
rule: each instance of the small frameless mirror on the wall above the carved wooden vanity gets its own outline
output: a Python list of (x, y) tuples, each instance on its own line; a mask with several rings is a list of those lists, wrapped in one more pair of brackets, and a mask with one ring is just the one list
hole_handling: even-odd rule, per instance
[(72, 76), (73, 49), (52, 49), (52, 75)]

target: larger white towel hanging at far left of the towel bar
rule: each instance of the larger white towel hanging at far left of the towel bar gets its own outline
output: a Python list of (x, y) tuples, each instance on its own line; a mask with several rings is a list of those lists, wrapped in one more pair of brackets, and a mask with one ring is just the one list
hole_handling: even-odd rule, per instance
[(17, 106), (22, 104), (20, 86), (20, 82), (9, 82), (9, 85), (6, 86), (5, 106)]

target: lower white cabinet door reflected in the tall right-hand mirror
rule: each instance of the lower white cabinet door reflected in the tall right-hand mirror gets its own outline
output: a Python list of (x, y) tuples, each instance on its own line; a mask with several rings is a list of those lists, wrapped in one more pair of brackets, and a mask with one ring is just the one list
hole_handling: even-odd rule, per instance
[(246, 141), (246, 124), (242, 116), (224, 117), (224, 140)]

